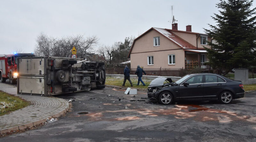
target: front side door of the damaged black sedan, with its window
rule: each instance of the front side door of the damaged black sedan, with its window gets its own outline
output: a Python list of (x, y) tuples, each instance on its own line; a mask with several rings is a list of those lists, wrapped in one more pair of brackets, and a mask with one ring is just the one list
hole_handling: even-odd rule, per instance
[(184, 86), (184, 82), (179, 87), (179, 98), (202, 98), (204, 95), (203, 75), (196, 75), (188, 78), (185, 82), (189, 85)]

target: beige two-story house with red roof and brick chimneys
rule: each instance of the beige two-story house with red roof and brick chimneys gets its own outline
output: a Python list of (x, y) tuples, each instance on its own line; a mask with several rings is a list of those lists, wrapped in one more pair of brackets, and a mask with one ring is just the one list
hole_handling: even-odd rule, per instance
[(210, 48), (206, 41), (211, 39), (207, 34), (192, 32), (191, 25), (186, 31), (178, 30), (177, 23), (172, 29), (152, 27), (133, 41), (128, 55), (131, 68), (206, 68), (204, 47)]

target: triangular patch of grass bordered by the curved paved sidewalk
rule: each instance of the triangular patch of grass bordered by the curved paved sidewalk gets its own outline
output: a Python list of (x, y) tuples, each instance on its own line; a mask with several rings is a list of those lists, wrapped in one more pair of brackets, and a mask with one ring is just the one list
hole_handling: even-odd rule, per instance
[(0, 91), (0, 116), (7, 114), (11, 111), (24, 108), (28, 105), (28, 101), (22, 100), (19, 97)]

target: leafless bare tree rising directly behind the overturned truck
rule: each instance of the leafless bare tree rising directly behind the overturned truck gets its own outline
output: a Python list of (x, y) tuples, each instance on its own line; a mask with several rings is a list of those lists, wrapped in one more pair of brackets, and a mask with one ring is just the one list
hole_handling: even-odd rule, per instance
[(85, 58), (93, 51), (98, 38), (96, 36), (84, 38), (83, 35), (76, 35), (59, 39), (41, 33), (36, 42), (35, 54), (37, 56), (71, 57), (71, 49), (75, 46), (77, 57)]

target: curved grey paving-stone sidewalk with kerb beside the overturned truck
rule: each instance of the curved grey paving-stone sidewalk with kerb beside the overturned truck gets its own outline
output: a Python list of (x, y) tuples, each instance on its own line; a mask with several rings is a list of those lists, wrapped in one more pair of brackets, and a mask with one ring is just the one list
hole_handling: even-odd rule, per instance
[(19, 96), (31, 102), (31, 105), (0, 116), (0, 135), (16, 130), (23, 130), (46, 122), (46, 119), (57, 118), (69, 109), (68, 101), (56, 97), (42, 97), (17, 94), (17, 87), (0, 83), (0, 90)]

